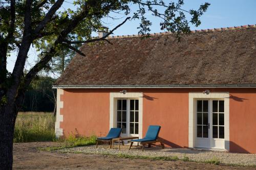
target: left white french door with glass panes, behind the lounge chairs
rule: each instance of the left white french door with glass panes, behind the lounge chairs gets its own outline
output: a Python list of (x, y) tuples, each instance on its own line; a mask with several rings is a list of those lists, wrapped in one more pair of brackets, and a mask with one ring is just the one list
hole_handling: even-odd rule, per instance
[(117, 128), (122, 128), (122, 136), (139, 136), (139, 100), (117, 100)]

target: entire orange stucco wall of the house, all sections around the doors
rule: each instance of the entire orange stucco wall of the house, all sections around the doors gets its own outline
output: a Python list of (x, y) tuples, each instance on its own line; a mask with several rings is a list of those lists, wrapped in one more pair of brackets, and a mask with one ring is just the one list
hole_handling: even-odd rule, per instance
[[(188, 147), (188, 93), (205, 89), (127, 89), (143, 92), (143, 135), (149, 125), (160, 125), (159, 137), (166, 145)], [(109, 130), (110, 92), (120, 89), (65, 89), (64, 135), (104, 136)], [(256, 153), (256, 89), (212, 88), (211, 92), (229, 92), (230, 152)]]

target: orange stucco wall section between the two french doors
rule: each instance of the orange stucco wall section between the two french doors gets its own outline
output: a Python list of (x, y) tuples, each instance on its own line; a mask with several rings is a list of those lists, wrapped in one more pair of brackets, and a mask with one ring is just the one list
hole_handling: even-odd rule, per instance
[(159, 137), (165, 144), (188, 147), (188, 93), (172, 89), (143, 94), (143, 135), (149, 125), (160, 125)]

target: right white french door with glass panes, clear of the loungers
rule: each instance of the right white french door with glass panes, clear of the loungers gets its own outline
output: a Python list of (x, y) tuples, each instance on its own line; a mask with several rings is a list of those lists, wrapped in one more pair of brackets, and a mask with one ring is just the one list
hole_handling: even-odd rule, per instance
[(197, 100), (196, 129), (198, 148), (225, 148), (224, 100)]

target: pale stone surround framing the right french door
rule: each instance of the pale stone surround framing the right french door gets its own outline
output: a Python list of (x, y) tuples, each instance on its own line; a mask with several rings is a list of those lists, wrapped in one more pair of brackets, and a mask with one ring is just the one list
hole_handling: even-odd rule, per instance
[(197, 140), (197, 103), (198, 99), (220, 100), (224, 99), (224, 134), (225, 134), (225, 150), (229, 151), (229, 92), (210, 92), (203, 94), (202, 92), (189, 92), (188, 95), (188, 147), (195, 148)]

